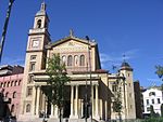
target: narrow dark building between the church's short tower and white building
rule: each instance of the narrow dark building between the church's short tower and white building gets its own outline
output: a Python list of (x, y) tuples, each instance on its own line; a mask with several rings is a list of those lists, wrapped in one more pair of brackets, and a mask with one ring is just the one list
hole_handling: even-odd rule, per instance
[(135, 105), (136, 105), (136, 118), (142, 119), (142, 94), (140, 90), (139, 81), (134, 82), (134, 93), (135, 93)]

